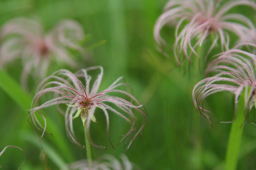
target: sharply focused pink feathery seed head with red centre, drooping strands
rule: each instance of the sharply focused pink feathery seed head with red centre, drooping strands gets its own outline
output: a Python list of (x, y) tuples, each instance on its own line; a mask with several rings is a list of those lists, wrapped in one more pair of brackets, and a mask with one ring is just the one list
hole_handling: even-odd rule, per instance
[[(92, 87), (90, 88), (91, 76), (88, 74), (88, 71), (100, 70), (96, 80), (94, 81)], [(90, 139), (89, 129), (92, 120), (96, 122), (94, 112), (96, 108), (99, 108), (103, 111), (103, 114), (106, 117), (107, 123), (107, 136), (112, 145), (112, 142), (109, 138), (109, 114), (108, 111), (120, 116), (131, 125), (130, 130), (122, 136), (122, 139), (126, 138), (127, 143), (131, 133), (135, 131), (136, 126), (136, 117), (133, 114), (133, 110), (140, 113), (144, 117), (144, 123), (135, 133), (135, 135), (130, 140), (127, 149), (130, 147), (132, 141), (135, 137), (142, 132), (144, 125), (146, 124), (146, 113), (144, 111), (143, 105), (141, 105), (132, 95), (126, 91), (118, 90), (120, 86), (126, 86), (127, 84), (121, 83), (120, 81), (123, 77), (119, 77), (113, 84), (111, 84), (107, 89), (99, 92), (99, 86), (103, 77), (103, 68), (101, 66), (89, 67), (87, 69), (81, 69), (77, 73), (73, 74), (68, 70), (59, 70), (45, 78), (38, 87), (38, 93), (35, 95), (32, 103), (32, 108), (28, 110), (30, 112), (30, 117), (32, 118), (34, 126), (42, 130), (41, 139), (45, 133), (46, 129), (46, 119), (43, 114), (40, 112), (41, 109), (53, 106), (66, 104), (67, 109), (65, 111), (65, 127), (68, 137), (79, 147), (83, 148), (84, 146), (80, 144), (75, 136), (73, 129), (73, 119), (81, 116), (83, 124), (86, 122), (86, 137), (90, 144), (97, 148), (105, 148), (104, 146), (96, 145)], [(85, 84), (82, 81), (85, 81)], [(54, 93), (55, 96), (53, 99), (40, 104), (39, 101), (41, 97), (47, 93)], [(113, 93), (113, 96), (111, 95)], [(114, 94), (125, 95), (132, 102), (129, 102), (121, 97), (116, 97)], [(135, 104), (133, 104), (135, 103)], [(111, 105), (114, 105), (115, 108)], [(44, 119), (44, 125), (42, 125), (38, 119), (36, 112), (38, 112)], [(29, 117), (29, 119), (30, 119)], [(129, 118), (130, 119), (129, 119)], [(40, 139), (40, 141), (41, 141)], [(121, 142), (120, 141), (120, 142)], [(119, 142), (119, 143), (120, 143)], [(113, 146), (113, 145), (112, 145)]]

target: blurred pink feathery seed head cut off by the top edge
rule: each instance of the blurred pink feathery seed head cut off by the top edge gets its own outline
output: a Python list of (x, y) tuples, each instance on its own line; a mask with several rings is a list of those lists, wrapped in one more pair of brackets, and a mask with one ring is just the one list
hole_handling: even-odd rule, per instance
[(161, 29), (168, 24), (175, 26), (173, 50), (179, 64), (185, 59), (190, 61), (192, 54), (198, 56), (195, 48), (210, 34), (214, 38), (208, 54), (219, 41), (223, 51), (229, 48), (228, 32), (235, 34), (239, 40), (248, 42), (250, 39), (248, 33), (255, 30), (253, 23), (244, 15), (228, 13), (228, 11), (241, 5), (256, 9), (256, 4), (249, 0), (230, 0), (221, 6), (219, 3), (220, 0), (170, 0), (154, 28), (154, 37), (159, 50), (165, 53), (164, 47), (171, 49), (160, 34)]

